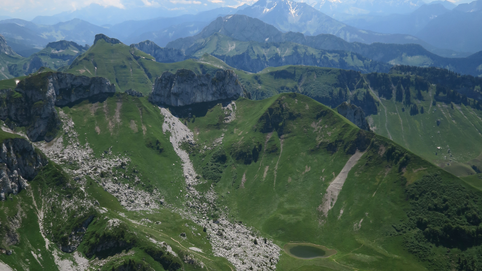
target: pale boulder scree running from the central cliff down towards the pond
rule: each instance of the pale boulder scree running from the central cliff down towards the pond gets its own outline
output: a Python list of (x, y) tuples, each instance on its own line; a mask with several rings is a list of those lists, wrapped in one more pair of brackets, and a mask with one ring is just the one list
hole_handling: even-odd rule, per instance
[[(166, 108), (160, 109), (161, 114), (164, 115), (162, 131), (171, 133), (169, 139), (182, 161), (186, 177), (187, 207), (176, 211), (183, 217), (206, 227), (214, 256), (227, 258), (236, 270), (248, 271), (250, 268), (254, 271), (275, 270), (281, 249), (273, 244), (272, 240), (267, 239), (267, 243), (264, 244), (263, 237), (253, 229), (228, 221), (227, 207), (221, 212), (217, 223), (210, 222), (208, 214), (211, 214), (211, 210), (215, 207), (217, 195), (213, 187), (202, 194), (194, 188), (200, 181), (195, 178), (197, 174), (188, 153), (180, 148), (182, 142), (192, 142), (193, 133)], [(223, 136), (216, 139), (213, 148), (222, 144), (222, 139)], [(254, 239), (258, 240), (258, 244), (254, 244)]]

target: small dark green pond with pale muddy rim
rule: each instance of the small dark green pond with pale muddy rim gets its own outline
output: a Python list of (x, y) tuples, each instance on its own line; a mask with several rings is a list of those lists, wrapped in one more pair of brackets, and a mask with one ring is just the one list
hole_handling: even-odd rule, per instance
[(336, 254), (335, 249), (311, 243), (288, 243), (284, 245), (284, 251), (298, 259), (327, 258)]

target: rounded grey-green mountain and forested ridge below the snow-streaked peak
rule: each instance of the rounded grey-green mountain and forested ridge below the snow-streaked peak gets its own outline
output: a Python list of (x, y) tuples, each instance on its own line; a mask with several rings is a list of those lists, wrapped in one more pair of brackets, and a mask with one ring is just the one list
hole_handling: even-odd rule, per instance
[[(277, 64), (274, 65), (273, 62), (270, 62), (269, 59), (272, 59), (272, 54), (275, 53), (272, 51), (274, 48), (276, 48), (280, 58), (288, 55), (292, 56), (296, 50), (302, 48), (298, 46), (296, 50), (294, 50), (295, 47), (288, 45), (288, 43), (305, 45), (306, 47), (303, 47), (305, 48), (303, 50), (307, 50), (308, 52), (310, 52), (311, 49), (307, 48), (323, 50), (326, 53), (328, 53), (328, 51), (335, 53), (335, 51), (341, 50), (356, 53), (358, 55), (357, 58), (360, 60), (366, 58), (379, 62), (379, 64), (375, 66), (373, 66), (372, 63), (370, 66), (363, 64), (362, 67), (351, 67), (351, 69), (362, 72), (374, 70), (374, 67), (376, 67), (375, 70), (383, 70), (385, 67), (381, 65), (381, 63), (388, 63), (390, 66), (402, 64), (448, 68), (459, 73), (475, 76), (482, 74), (482, 68), (480, 68), (482, 64), (481, 53), (464, 58), (447, 58), (430, 53), (419, 44), (390, 44), (378, 42), (366, 44), (362, 42), (348, 42), (330, 34), (305, 36), (299, 32), (283, 33), (276, 29), (276, 27), (264, 23), (259, 19), (239, 14), (227, 15), (224, 18), (219, 17), (207, 27), (204, 27), (199, 34), (171, 41), (166, 47), (179, 49), (186, 55), (195, 57), (204, 53), (213, 54), (226, 61), (226, 63), (232, 67), (251, 72), (256, 72), (267, 67), (259, 64), (261, 59), (264, 59), (263, 65), (268, 66), (305, 64), (312, 66), (327, 65), (328, 67), (339, 68), (339, 66), (335, 66), (334, 64), (323, 62), (308, 64), (308, 62), (303, 62), (306, 60), (303, 60), (304, 58), (300, 56), (297, 57), (298, 62), (296, 63), (277, 62)], [(311, 50), (312, 54), (320, 54), (320, 52), (316, 50)], [(318, 53), (315, 53), (315, 51)], [(254, 59), (259, 60), (255, 61)]]

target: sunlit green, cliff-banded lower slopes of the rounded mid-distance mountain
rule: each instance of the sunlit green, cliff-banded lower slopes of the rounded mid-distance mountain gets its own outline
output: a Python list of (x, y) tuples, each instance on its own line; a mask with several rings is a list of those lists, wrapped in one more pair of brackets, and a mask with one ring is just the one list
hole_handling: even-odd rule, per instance
[(195, 57), (205, 53), (223, 59), (234, 68), (250, 72), (287, 64), (346, 68), (362, 72), (383, 72), (391, 67), (352, 52), (318, 50), (293, 42), (238, 41), (219, 33), (196, 41), (186, 50), (187, 55)]

